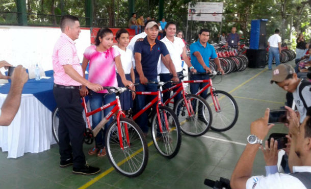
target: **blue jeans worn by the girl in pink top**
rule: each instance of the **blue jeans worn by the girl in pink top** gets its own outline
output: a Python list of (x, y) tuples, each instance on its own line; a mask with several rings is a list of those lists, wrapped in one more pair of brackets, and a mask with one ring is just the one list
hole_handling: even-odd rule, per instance
[[(98, 107), (101, 107), (104, 104), (108, 104), (116, 99), (115, 94), (106, 95), (106, 93), (95, 93), (93, 91), (91, 91), (90, 93), (91, 94), (89, 95), (89, 98), (90, 98), (91, 111), (96, 110), (98, 109)], [(111, 106), (111, 107), (108, 107), (108, 109), (103, 110), (103, 115), (106, 116), (107, 114), (109, 114), (109, 112), (113, 109), (113, 107), (114, 106)], [(96, 125), (101, 121), (101, 111), (92, 115), (92, 121), (93, 121), (92, 127), (94, 129)], [(103, 147), (105, 147), (105, 135), (106, 135), (108, 126), (111, 124), (112, 121), (113, 119), (111, 117), (109, 122), (106, 123), (104, 130), (100, 129), (97, 136), (95, 137), (96, 148), (102, 149)]]

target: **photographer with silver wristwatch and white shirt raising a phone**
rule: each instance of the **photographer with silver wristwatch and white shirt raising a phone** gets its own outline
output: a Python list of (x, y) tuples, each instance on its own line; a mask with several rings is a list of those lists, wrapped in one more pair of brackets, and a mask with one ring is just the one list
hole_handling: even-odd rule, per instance
[[(273, 124), (268, 125), (269, 109), (266, 109), (265, 116), (250, 125), (248, 144), (243, 151), (234, 172), (232, 173), (231, 188), (310, 188), (311, 187), (311, 109), (308, 109), (307, 116), (302, 124), (296, 113), (286, 107), (289, 111), (289, 132), (292, 136), (292, 145), (289, 154), (291, 174), (274, 173), (267, 176), (251, 176), (252, 166), (258, 151), (262, 147), (262, 140), (265, 139)], [(273, 149), (277, 142), (271, 140)], [(272, 147), (271, 146), (271, 147)], [(273, 152), (275, 153), (275, 152)], [(266, 154), (267, 155), (267, 154)], [(275, 156), (271, 164), (275, 164)], [(297, 164), (296, 157), (301, 162)], [(266, 159), (266, 157), (265, 157)], [(268, 165), (268, 164), (267, 164)]]

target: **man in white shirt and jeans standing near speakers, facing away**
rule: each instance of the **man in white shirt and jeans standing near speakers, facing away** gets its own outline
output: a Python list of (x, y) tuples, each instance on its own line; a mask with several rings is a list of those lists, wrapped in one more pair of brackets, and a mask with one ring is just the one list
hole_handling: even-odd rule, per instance
[(269, 47), (269, 60), (268, 68), (272, 69), (272, 60), (275, 58), (276, 66), (280, 64), (280, 53), (281, 53), (281, 37), (279, 36), (280, 30), (276, 29), (274, 35), (270, 36), (268, 39)]

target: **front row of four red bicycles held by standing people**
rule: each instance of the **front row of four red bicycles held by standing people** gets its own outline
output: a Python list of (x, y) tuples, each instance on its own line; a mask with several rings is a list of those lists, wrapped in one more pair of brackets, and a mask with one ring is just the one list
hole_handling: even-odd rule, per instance
[[(208, 73), (191, 73), (208, 74)], [(213, 72), (212, 75), (220, 74)], [(227, 92), (216, 90), (213, 87), (212, 79), (206, 80), (183, 80), (186, 75), (180, 75), (180, 82), (172, 82), (172, 87), (163, 89), (167, 83), (148, 82), (158, 85), (157, 92), (136, 92), (136, 95), (153, 95), (154, 98), (142, 110), (135, 115), (132, 112), (125, 113), (121, 109), (119, 95), (127, 88), (104, 87), (108, 94), (115, 93), (116, 99), (89, 112), (85, 98), (82, 98), (85, 121), (85, 142), (91, 144), (100, 129), (112, 117), (113, 122), (106, 131), (106, 152), (112, 166), (122, 175), (135, 177), (140, 175), (147, 166), (148, 146), (146, 138), (135, 120), (144, 112), (149, 110), (151, 123), (151, 137), (155, 148), (165, 157), (173, 158), (179, 151), (182, 135), (181, 132), (198, 137), (209, 129), (225, 131), (232, 128), (237, 122), (239, 109), (236, 100)], [(207, 83), (196, 94), (189, 94), (187, 86), (193, 83)], [(137, 84), (136, 84), (137, 85)], [(141, 85), (141, 84), (139, 84)], [(210, 88), (210, 89), (209, 89)], [(172, 90), (177, 90), (172, 93)], [(203, 91), (208, 90), (206, 99), (199, 96)], [(134, 92), (134, 91), (133, 91)], [(177, 93), (182, 97), (174, 104), (173, 98)], [(171, 97), (162, 102), (163, 93), (172, 94)], [(113, 107), (113, 110), (92, 129), (89, 117), (97, 112)], [(55, 140), (58, 142), (59, 114), (56, 109), (52, 115), (52, 131)]]

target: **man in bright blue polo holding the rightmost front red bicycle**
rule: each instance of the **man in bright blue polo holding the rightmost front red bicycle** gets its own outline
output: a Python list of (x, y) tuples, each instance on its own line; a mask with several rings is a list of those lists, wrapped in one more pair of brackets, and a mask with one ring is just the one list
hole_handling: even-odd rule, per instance
[[(191, 64), (194, 69), (197, 70), (198, 74), (191, 74), (190, 80), (204, 80), (209, 79), (207, 74), (199, 74), (212, 72), (210, 67), (210, 58), (214, 59), (218, 71), (224, 74), (223, 69), (221, 68), (219, 59), (216, 55), (215, 48), (208, 43), (210, 39), (210, 31), (208, 29), (201, 29), (199, 32), (199, 40), (190, 45), (190, 54), (191, 54)], [(190, 67), (191, 69), (192, 67)], [(199, 89), (202, 89), (208, 83), (194, 83), (190, 85), (190, 92), (195, 94)], [(200, 96), (204, 99), (207, 96), (207, 90), (203, 91)]]

